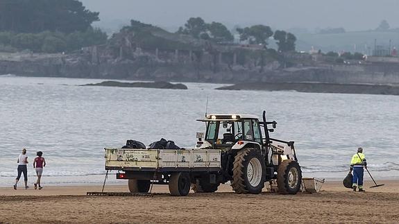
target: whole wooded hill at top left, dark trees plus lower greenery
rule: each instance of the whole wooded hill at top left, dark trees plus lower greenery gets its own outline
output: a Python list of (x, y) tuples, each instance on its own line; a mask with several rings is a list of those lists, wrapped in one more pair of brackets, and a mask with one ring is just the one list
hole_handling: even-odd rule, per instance
[(99, 12), (76, 0), (0, 0), (0, 49), (58, 53), (105, 44)]

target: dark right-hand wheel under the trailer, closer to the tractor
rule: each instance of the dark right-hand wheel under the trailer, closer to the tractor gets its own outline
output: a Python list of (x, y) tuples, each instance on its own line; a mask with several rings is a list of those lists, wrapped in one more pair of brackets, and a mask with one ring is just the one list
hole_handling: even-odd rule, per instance
[(169, 179), (169, 191), (171, 196), (187, 196), (190, 191), (190, 176), (188, 173), (172, 173)]

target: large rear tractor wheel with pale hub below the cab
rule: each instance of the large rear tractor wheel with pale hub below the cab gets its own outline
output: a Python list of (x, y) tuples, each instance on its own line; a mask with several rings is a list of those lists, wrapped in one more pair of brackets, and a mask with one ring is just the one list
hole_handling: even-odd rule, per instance
[(265, 180), (264, 158), (255, 148), (244, 148), (235, 156), (232, 189), (236, 193), (260, 193)]

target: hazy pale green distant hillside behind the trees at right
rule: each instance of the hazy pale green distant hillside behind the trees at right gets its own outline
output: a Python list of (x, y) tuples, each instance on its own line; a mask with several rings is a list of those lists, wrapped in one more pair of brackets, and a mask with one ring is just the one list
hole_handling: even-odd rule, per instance
[(296, 44), (298, 51), (309, 51), (310, 47), (314, 46), (314, 49), (321, 49), (323, 52), (358, 51), (370, 54), (374, 49), (375, 39), (377, 39), (377, 45), (388, 48), (389, 40), (391, 40), (391, 47), (399, 47), (399, 33), (394, 32), (296, 33), (296, 37), (298, 38)]

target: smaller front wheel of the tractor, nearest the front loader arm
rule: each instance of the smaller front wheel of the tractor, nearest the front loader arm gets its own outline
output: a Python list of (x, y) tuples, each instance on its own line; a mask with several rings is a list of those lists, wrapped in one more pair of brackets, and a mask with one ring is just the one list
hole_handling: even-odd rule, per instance
[(302, 171), (298, 162), (294, 160), (284, 160), (278, 166), (277, 187), (278, 193), (296, 194), (302, 184)]

